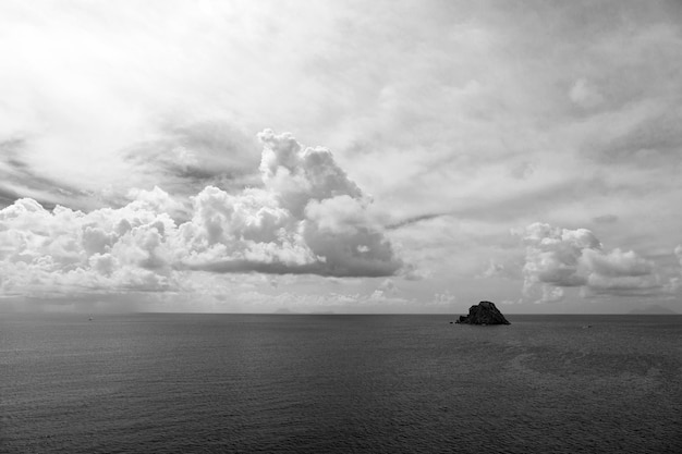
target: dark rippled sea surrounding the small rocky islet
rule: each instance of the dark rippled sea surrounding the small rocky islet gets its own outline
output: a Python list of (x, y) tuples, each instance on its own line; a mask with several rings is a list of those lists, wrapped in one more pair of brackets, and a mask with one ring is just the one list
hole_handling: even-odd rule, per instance
[(0, 317), (1, 452), (682, 452), (682, 316)]

